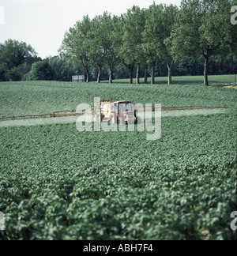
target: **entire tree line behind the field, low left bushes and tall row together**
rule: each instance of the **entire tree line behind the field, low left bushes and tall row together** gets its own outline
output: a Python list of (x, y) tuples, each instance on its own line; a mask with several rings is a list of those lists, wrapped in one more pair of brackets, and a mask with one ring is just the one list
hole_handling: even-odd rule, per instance
[[(178, 8), (133, 6), (121, 16), (85, 16), (66, 32), (59, 56), (41, 59), (24, 42), (0, 43), (0, 81), (86, 81), (156, 76), (228, 74), (236, 69), (237, 33), (231, 24), (236, 0), (182, 0)], [(204, 70), (204, 72), (203, 72)]]

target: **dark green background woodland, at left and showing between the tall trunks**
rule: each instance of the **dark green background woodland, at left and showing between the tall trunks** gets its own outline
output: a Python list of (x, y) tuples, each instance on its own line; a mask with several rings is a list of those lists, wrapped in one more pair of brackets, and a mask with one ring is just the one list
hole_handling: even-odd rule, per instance
[[(22, 57), (24, 56), (24, 58)], [(36, 56), (36, 51), (26, 43), (7, 40), (0, 43), (0, 81), (25, 81), (25, 80), (53, 80), (71, 81), (72, 76), (83, 73), (80, 65), (74, 65), (65, 58), (58, 56), (41, 59)], [(150, 75), (151, 70), (147, 71), (147, 64), (139, 66), (139, 72), (134, 69), (133, 77), (143, 77), (145, 73)], [(209, 74), (232, 74), (237, 72), (237, 62), (231, 56), (213, 55), (209, 61)], [(99, 73), (96, 65), (90, 69), (92, 81), (96, 81)], [(188, 57), (182, 62), (176, 62), (172, 67), (174, 76), (195, 76), (203, 73), (203, 57)], [(119, 63), (113, 70), (115, 79), (128, 78), (127, 67)], [(155, 76), (165, 77), (167, 67), (162, 62), (156, 62)], [(107, 66), (100, 69), (100, 78), (107, 80)]]

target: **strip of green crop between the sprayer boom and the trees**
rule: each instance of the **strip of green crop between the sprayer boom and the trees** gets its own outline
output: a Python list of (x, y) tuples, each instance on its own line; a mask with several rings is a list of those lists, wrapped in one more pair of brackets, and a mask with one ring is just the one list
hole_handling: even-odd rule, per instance
[[(191, 78), (190, 80), (194, 82), (194, 78)], [(230, 111), (236, 112), (235, 89), (189, 85), (190, 81), (187, 79), (188, 77), (184, 85), (171, 86), (96, 83), (85, 85), (85, 83), (55, 81), (0, 83), (0, 118), (73, 110), (81, 103), (93, 104), (94, 97), (100, 97), (102, 100), (128, 98), (135, 103), (162, 104), (162, 107), (228, 106)], [(218, 81), (217, 77), (216, 81)]]

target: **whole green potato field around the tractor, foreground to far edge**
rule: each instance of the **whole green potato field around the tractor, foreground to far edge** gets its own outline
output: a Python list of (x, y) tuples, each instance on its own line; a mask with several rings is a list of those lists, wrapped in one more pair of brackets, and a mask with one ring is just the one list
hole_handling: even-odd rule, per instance
[(92, 104), (229, 106), (162, 118), (146, 133), (74, 123), (0, 128), (0, 211), (14, 239), (236, 239), (236, 90), (200, 85), (0, 83), (0, 118)]

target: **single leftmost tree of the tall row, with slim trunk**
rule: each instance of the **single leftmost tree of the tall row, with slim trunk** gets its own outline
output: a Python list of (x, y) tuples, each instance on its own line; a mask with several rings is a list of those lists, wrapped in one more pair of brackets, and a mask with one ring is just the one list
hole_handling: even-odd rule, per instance
[(92, 22), (88, 16), (83, 17), (82, 21), (77, 21), (69, 32), (66, 32), (59, 49), (61, 56), (70, 61), (79, 62), (86, 73), (86, 82), (90, 81), (89, 68), (92, 65), (92, 58), (89, 49), (92, 45), (90, 31)]

